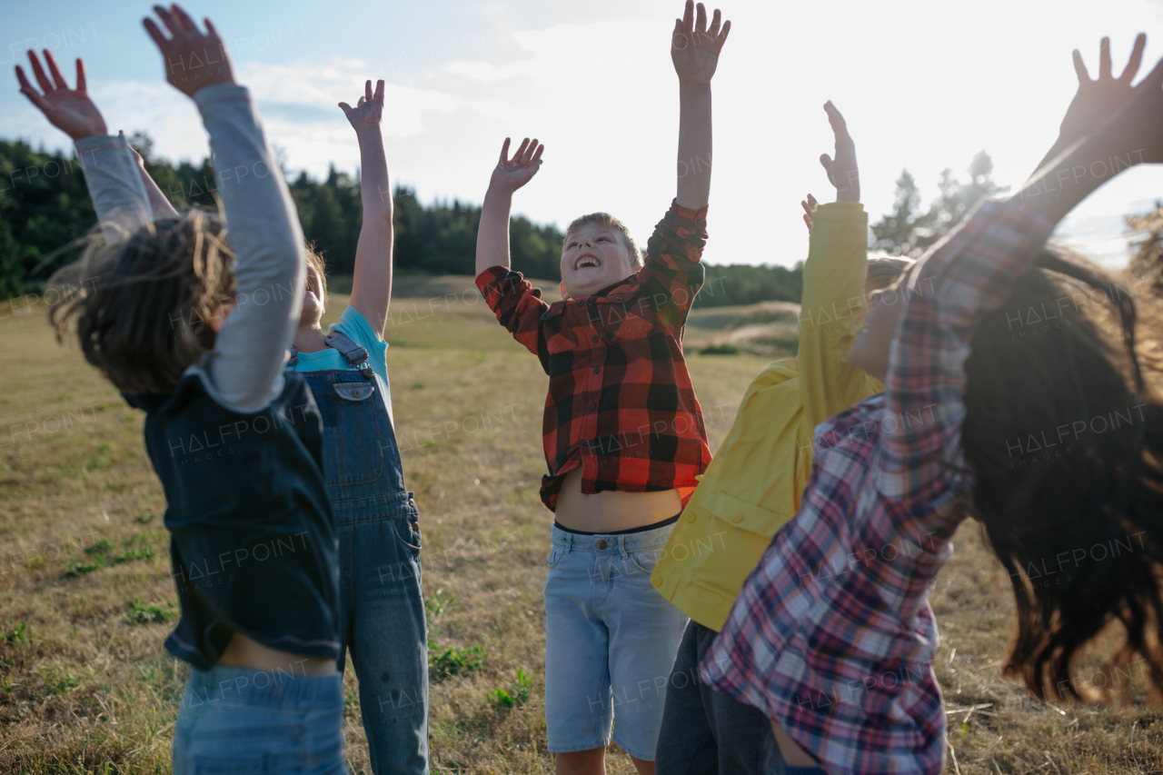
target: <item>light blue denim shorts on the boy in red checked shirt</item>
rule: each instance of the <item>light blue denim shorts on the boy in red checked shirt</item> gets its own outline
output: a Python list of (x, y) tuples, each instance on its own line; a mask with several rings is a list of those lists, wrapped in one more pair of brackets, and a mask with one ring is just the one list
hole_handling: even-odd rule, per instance
[(673, 525), (628, 535), (554, 527), (545, 580), (549, 751), (613, 740), (654, 761), (686, 617), (650, 583)]

